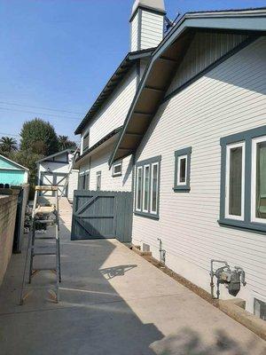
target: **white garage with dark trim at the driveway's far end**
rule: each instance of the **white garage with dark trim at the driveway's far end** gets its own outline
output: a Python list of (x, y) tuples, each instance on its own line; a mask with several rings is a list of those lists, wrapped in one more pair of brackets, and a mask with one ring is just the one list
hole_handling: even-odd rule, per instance
[[(46, 156), (37, 162), (38, 165), (38, 185), (59, 186), (59, 194), (64, 191), (64, 196), (69, 201), (73, 201), (74, 190), (78, 184), (78, 170), (71, 170), (66, 183), (67, 174), (70, 171), (71, 162), (74, 158), (74, 150), (66, 149), (62, 152)], [(44, 193), (49, 196), (51, 193)]]

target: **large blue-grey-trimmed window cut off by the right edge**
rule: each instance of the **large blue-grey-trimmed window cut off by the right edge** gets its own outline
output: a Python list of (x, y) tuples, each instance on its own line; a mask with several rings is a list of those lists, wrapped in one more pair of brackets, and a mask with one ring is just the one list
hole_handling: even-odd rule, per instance
[(266, 231), (266, 126), (221, 138), (219, 222)]

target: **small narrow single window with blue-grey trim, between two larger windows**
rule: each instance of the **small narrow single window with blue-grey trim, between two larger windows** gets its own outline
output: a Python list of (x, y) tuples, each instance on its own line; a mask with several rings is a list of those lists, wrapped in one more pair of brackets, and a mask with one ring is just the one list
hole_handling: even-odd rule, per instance
[(191, 154), (192, 147), (175, 152), (175, 181), (173, 188), (175, 192), (190, 191)]

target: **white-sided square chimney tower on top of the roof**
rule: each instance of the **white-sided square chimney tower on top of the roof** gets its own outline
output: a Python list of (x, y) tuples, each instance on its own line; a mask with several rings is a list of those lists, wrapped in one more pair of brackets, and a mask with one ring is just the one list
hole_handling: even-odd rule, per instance
[(130, 51), (157, 47), (163, 38), (164, 0), (136, 0), (130, 18)]

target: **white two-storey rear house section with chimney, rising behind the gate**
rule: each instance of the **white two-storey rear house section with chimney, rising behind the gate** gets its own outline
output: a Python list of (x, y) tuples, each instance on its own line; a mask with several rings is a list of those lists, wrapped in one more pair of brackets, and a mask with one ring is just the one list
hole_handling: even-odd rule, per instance
[[(133, 157), (129, 154), (123, 159), (121, 156), (111, 170), (108, 160), (151, 59), (153, 48), (163, 38), (164, 15), (162, 0), (136, 1), (133, 6), (130, 18), (130, 52), (75, 130), (75, 134), (81, 134), (82, 138), (81, 156), (75, 164), (75, 168), (80, 169), (80, 189), (132, 189)], [(139, 115), (140, 118), (142, 116)], [(133, 141), (138, 138), (137, 133), (131, 134)]]

